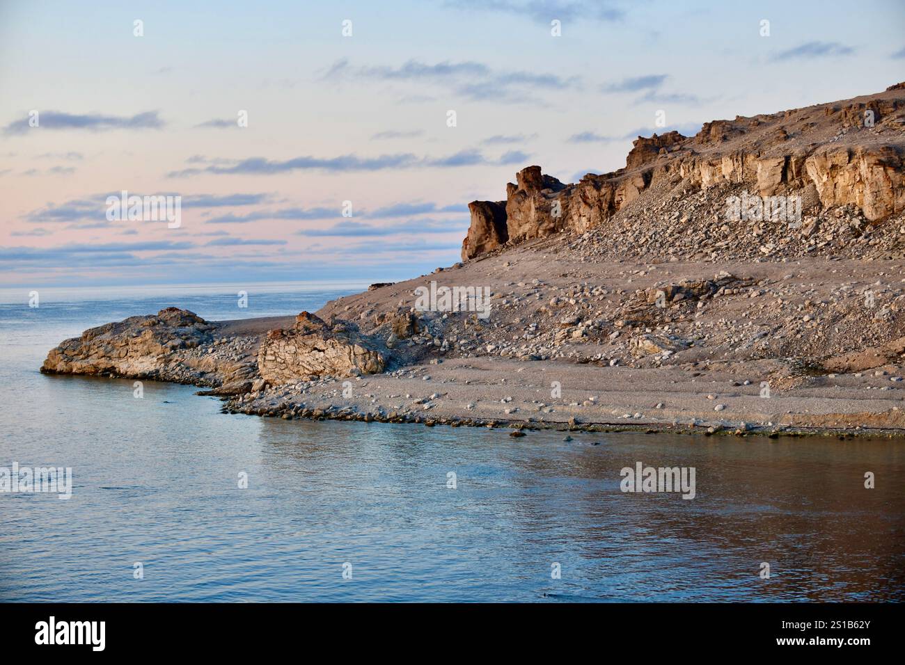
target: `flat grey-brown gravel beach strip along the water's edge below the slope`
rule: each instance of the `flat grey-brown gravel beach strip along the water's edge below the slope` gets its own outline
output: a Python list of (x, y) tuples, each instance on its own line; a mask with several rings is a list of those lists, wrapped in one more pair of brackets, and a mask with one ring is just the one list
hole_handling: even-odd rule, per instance
[[(851, 385), (853, 382), (845, 377), (840, 383), (850, 385), (806, 385), (814, 384), (814, 380), (762, 398), (757, 384), (743, 385), (726, 378), (725, 372), (694, 373), (699, 374), (695, 380), (677, 384), (670, 383), (676, 381), (672, 376), (687, 370), (638, 370), (535, 361), (528, 364), (534, 366), (534, 371), (528, 373), (521, 371), (524, 365), (500, 358), (457, 358), (436, 365), (406, 366), (395, 373), (327, 379), (223, 396), (221, 411), (284, 420), (443, 424), (512, 432), (905, 436), (905, 413), (897, 406), (901, 399), (898, 395), (859, 399), (854, 394), (862, 386)], [(531, 378), (559, 376), (575, 381), (574, 385), (582, 385), (582, 376), (592, 374), (597, 379), (595, 391), (563, 387), (559, 399), (550, 398), (549, 391), (541, 393), (543, 388)], [(519, 375), (527, 375), (529, 379), (519, 382), (511, 378)], [(643, 375), (643, 385), (650, 387), (626, 390), (623, 386), (627, 382), (642, 378), (638, 375)], [(495, 381), (505, 377), (509, 377), (505, 384)], [(879, 377), (862, 378), (864, 383), (870, 383)], [(653, 387), (662, 385), (670, 385), (672, 390)], [(343, 396), (344, 391), (348, 396)], [(216, 392), (199, 394), (216, 395)], [(787, 408), (793, 404), (806, 404), (806, 410)], [(715, 411), (717, 405), (724, 408)], [(872, 409), (866, 410), (868, 406)]]

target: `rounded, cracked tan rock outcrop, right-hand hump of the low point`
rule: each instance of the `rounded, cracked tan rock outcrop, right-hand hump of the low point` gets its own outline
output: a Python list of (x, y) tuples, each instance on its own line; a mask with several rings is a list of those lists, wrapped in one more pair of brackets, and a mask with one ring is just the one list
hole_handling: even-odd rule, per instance
[(258, 370), (268, 384), (310, 381), (383, 371), (386, 357), (351, 324), (329, 325), (301, 312), (289, 329), (267, 333), (258, 352)]

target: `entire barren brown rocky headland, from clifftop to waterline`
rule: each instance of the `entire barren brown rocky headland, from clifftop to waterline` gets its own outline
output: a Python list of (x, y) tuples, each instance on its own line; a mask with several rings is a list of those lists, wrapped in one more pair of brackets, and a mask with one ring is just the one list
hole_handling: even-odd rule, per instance
[[(450, 268), (297, 317), (127, 318), (42, 371), (286, 419), (905, 433), (903, 160), (905, 84), (639, 137), (614, 173), (528, 166), (469, 204)], [(452, 299), (419, 305), (431, 282)]]

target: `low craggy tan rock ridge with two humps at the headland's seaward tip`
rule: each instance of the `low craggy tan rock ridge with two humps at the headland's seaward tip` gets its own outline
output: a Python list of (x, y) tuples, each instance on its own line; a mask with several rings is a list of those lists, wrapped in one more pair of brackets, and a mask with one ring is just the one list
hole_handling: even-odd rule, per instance
[[(412, 334), (417, 323), (407, 312), (405, 317), (407, 326), (400, 318), (395, 328)], [(331, 328), (302, 312), (289, 329), (246, 328), (242, 322), (205, 321), (187, 309), (161, 309), (65, 340), (51, 350), (41, 371), (155, 379), (215, 388), (209, 394), (242, 394), (261, 379), (278, 385), (369, 374), (386, 366), (385, 354), (354, 324)]]

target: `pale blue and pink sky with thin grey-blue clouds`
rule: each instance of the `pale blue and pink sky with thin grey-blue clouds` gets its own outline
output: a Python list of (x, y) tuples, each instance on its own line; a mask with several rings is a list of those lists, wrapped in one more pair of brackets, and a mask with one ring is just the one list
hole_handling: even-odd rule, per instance
[[(882, 0), (0, 0), (0, 286), (411, 278), (525, 166), (575, 182), (905, 81), (903, 27)], [(179, 196), (178, 227), (110, 219), (123, 191)]]

